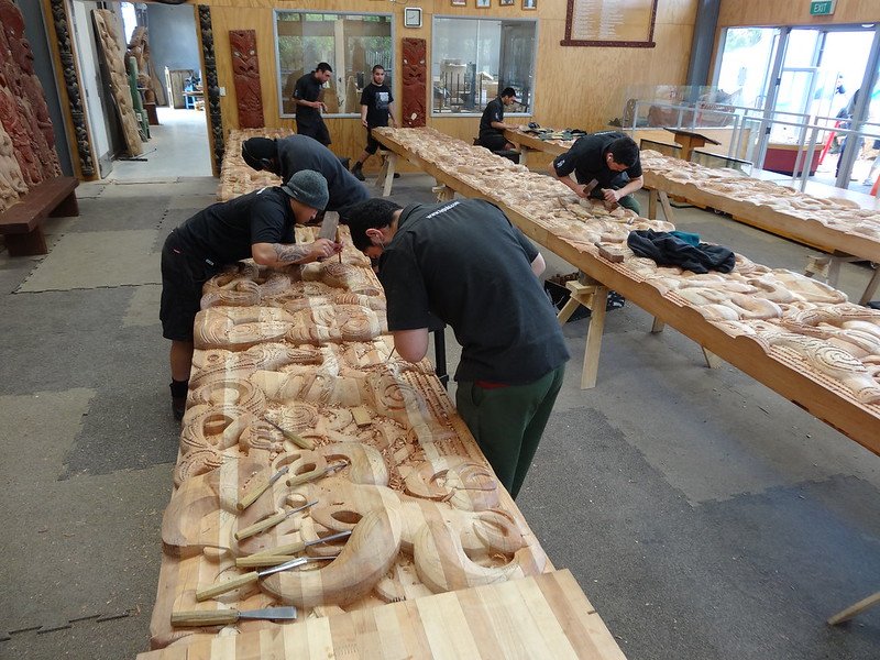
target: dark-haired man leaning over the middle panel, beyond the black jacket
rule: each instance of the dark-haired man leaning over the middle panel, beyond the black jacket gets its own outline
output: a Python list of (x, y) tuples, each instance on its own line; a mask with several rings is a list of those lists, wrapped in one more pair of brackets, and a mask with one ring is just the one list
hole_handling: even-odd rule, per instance
[[(569, 176), (572, 173), (576, 182)], [(604, 199), (641, 213), (632, 196), (645, 185), (639, 147), (624, 133), (603, 131), (579, 138), (568, 152), (553, 160), (550, 174), (579, 197)]]

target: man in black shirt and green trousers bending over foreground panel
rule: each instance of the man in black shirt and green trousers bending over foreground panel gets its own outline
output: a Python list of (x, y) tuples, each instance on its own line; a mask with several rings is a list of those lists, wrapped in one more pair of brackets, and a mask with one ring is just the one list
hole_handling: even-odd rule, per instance
[(454, 330), (459, 414), (516, 497), (569, 359), (537, 277), (543, 257), (480, 199), (405, 209), (370, 199), (352, 207), (349, 227), (355, 246), (380, 258), (388, 330), (404, 360), (425, 356), (431, 316)]

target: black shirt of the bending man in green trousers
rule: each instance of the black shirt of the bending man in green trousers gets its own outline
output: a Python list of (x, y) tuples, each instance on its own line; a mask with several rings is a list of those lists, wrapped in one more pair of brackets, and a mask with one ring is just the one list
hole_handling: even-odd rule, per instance
[(537, 255), (487, 201), (408, 206), (380, 261), (388, 329), (428, 328), (431, 314), (463, 346), (457, 381), (532, 383), (569, 359)]

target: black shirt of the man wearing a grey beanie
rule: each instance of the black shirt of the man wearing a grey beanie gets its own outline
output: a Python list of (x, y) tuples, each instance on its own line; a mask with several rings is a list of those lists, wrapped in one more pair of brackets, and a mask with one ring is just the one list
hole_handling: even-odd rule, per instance
[(177, 237), (188, 256), (217, 266), (251, 256), (254, 243), (293, 243), (296, 217), (280, 188), (263, 188), (199, 211)]

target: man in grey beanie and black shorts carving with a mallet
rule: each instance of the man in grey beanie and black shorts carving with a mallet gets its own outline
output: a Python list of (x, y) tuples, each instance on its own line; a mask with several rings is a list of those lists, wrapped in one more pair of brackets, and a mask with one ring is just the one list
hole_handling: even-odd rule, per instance
[(327, 239), (297, 244), (294, 224), (327, 206), (327, 182), (297, 172), (283, 186), (263, 188), (199, 211), (172, 231), (162, 249), (162, 334), (172, 340), (172, 409), (180, 419), (193, 366), (193, 324), (202, 285), (239, 260), (283, 268), (330, 256), (342, 246)]

